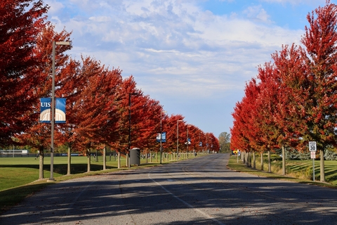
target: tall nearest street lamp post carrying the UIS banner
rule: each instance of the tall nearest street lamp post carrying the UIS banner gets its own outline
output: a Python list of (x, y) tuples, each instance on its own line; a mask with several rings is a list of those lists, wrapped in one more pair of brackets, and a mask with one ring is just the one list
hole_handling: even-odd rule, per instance
[(52, 63), (52, 81), (51, 81), (51, 178), (54, 181), (54, 124), (55, 124), (55, 46), (70, 45), (70, 41), (53, 41), (53, 63)]

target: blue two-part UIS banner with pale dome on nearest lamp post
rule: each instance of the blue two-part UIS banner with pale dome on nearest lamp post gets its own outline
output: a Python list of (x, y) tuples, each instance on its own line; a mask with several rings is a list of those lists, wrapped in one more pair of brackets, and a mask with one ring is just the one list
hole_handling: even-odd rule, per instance
[[(65, 123), (65, 98), (55, 99), (55, 123)], [(51, 122), (51, 98), (40, 98), (39, 122)]]

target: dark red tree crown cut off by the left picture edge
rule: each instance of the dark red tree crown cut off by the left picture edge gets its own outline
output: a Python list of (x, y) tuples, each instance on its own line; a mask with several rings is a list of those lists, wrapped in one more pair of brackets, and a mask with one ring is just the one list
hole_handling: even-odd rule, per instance
[(26, 117), (37, 96), (39, 84), (34, 68), (37, 35), (44, 27), (47, 6), (42, 1), (0, 2), (0, 145), (11, 143), (14, 134), (27, 129)]

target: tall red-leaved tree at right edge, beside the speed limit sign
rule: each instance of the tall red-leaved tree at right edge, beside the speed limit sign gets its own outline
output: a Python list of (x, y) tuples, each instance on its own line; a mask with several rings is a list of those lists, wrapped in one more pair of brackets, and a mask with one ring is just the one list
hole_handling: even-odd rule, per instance
[[(305, 108), (307, 130), (302, 137), (306, 141), (317, 141), (321, 165), (320, 180), (325, 181), (324, 151), (336, 146), (337, 111), (337, 6), (326, 1), (307, 16), (310, 27), (305, 27), (302, 44), (307, 52), (308, 80), (310, 88)], [(308, 104), (309, 103), (309, 104)]]

